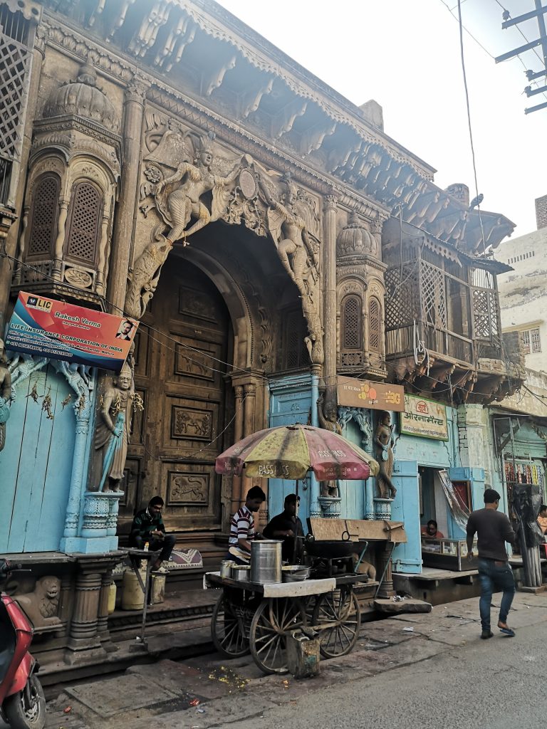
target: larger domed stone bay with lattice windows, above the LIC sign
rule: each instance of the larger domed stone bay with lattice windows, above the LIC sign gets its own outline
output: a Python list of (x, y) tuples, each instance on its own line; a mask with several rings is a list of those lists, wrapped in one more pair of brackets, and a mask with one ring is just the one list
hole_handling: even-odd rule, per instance
[(120, 122), (81, 66), (34, 122), (14, 289), (101, 306), (120, 179)]

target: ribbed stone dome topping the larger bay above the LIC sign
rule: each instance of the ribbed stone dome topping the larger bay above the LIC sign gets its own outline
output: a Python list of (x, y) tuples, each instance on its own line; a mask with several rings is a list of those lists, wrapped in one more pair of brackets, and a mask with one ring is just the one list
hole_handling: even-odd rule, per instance
[(98, 89), (97, 74), (93, 66), (81, 66), (76, 81), (69, 81), (58, 87), (46, 101), (44, 119), (66, 114), (75, 114), (98, 122), (107, 129), (117, 130), (118, 120), (114, 106)]

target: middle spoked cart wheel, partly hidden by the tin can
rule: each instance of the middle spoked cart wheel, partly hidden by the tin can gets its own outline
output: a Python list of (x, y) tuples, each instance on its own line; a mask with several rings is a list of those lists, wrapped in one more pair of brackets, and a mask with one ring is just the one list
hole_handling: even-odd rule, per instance
[(306, 612), (298, 599), (268, 598), (260, 603), (252, 619), (249, 644), (261, 671), (286, 673), (286, 636), (305, 623)]

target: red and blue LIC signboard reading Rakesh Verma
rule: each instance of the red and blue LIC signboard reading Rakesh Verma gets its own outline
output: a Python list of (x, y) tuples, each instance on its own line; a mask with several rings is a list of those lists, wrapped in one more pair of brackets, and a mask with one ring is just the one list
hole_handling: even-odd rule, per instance
[(20, 292), (9, 321), (7, 349), (119, 372), (139, 322)]

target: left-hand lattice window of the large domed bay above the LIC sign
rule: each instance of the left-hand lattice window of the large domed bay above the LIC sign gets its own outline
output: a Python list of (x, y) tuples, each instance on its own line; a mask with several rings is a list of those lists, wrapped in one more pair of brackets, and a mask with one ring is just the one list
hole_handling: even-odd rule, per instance
[(27, 258), (50, 258), (57, 234), (59, 192), (61, 179), (55, 174), (44, 174), (36, 180), (29, 218)]

